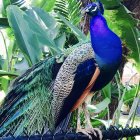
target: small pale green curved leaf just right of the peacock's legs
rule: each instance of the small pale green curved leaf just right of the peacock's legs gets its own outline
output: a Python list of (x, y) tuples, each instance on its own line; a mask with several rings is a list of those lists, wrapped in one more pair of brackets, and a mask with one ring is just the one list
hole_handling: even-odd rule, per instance
[(110, 99), (109, 98), (105, 98), (102, 102), (100, 102), (99, 104), (97, 105), (88, 105), (88, 109), (91, 111), (91, 112), (94, 112), (94, 113), (99, 113), (101, 112), (102, 110), (104, 110), (105, 108), (108, 107), (110, 103)]

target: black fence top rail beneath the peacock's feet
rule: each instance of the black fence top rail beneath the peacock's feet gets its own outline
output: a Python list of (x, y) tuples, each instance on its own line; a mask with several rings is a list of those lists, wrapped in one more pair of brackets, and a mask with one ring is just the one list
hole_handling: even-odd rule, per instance
[[(134, 137), (140, 135), (140, 128), (126, 128), (119, 130), (116, 127), (111, 127), (108, 130), (102, 131), (103, 139), (120, 139), (124, 137)], [(99, 138), (91, 135), (92, 139), (99, 140)], [(89, 140), (89, 137), (82, 133), (60, 133), (60, 134), (50, 134), (46, 133), (44, 135), (31, 135), (31, 136), (18, 136), (14, 137), (11, 134), (6, 137), (0, 138), (0, 140)]]

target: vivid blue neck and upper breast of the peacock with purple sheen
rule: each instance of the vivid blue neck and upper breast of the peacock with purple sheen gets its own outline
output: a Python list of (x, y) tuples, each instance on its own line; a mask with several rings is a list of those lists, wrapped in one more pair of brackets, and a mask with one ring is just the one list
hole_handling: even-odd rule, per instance
[(114, 63), (120, 59), (122, 54), (120, 38), (109, 29), (102, 15), (96, 15), (91, 18), (90, 36), (99, 64)]

